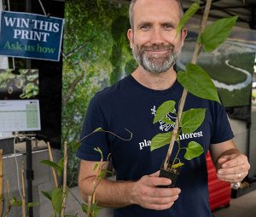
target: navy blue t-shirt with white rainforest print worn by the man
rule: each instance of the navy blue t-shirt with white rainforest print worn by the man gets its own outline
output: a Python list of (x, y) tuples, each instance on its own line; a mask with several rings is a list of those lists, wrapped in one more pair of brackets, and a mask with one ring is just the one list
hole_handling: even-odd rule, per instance
[[(152, 174), (160, 169), (166, 157), (168, 146), (150, 151), (150, 140), (155, 134), (172, 131), (173, 126), (167, 123), (153, 123), (158, 106), (166, 100), (180, 100), (183, 87), (176, 81), (170, 89), (153, 90), (137, 83), (130, 75), (103, 89), (90, 101), (81, 138), (90, 134), (96, 128), (111, 131), (124, 139), (120, 140), (113, 134), (97, 132), (83, 140), (77, 156), (84, 160), (99, 161), (100, 154), (94, 150), (96, 146), (103, 152), (104, 160), (111, 153), (113, 168), (117, 180), (139, 180), (143, 175)], [(115, 217), (210, 217), (212, 216), (208, 203), (206, 154), (209, 146), (233, 138), (224, 107), (211, 100), (203, 100), (188, 94), (183, 111), (190, 108), (206, 108), (206, 118), (192, 134), (181, 134), (181, 146), (188, 146), (189, 141), (196, 141), (204, 148), (204, 154), (193, 160), (183, 158), (180, 151), (178, 158), (185, 163), (177, 179), (176, 186), (181, 188), (179, 198), (172, 208), (152, 210), (131, 205), (116, 208)], [(175, 122), (175, 115), (167, 116)], [(172, 154), (175, 154), (177, 145)]]

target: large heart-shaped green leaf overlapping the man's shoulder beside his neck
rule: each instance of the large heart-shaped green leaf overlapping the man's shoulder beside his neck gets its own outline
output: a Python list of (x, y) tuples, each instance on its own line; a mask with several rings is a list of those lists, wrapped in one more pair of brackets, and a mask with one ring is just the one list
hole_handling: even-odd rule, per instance
[(186, 69), (187, 71), (177, 72), (177, 81), (181, 83), (189, 93), (203, 99), (219, 102), (217, 89), (207, 72), (200, 66), (192, 63), (189, 63)]

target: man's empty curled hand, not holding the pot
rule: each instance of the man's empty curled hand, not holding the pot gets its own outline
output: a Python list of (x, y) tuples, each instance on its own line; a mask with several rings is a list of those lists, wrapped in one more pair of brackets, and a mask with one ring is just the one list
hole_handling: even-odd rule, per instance
[(241, 153), (224, 154), (218, 158), (218, 179), (230, 182), (243, 180), (250, 168), (247, 157)]

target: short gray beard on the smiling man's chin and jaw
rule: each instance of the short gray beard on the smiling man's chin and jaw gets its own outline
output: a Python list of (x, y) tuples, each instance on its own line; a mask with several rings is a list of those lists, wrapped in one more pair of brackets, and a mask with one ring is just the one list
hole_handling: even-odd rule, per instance
[(143, 50), (136, 48), (132, 49), (132, 54), (138, 65), (142, 66), (145, 71), (160, 74), (168, 71), (177, 62), (180, 50), (180, 48), (174, 51), (170, 50), (171, 54), (162, 57), (154, 57), (154, 55), (148, 57)]

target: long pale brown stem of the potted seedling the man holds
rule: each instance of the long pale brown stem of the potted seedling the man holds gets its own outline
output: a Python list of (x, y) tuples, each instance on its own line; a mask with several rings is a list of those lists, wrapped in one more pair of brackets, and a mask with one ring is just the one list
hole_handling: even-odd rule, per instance
[[(201, 33), (203, 33), (206, 29), (207, 18), (208, 18), (208, 15), (210, 13), (211, 4), (212, 4), (212, 0), (207, 0), (206, 8), (205, 8), (202, 20), (201, 20), (201, 26), (200, 26), (198, 37), (201, 37)], [(196, 42), (195, 51), (194, 51), (191, 63), (196, 64), (196, 62), (198, 60), (198, 57), (199, 57), (199, 54), (201, 53), (201, 48), (202, 48), (201, 43)], [(172, 140), (170, 142), (169, 149), (168, 149), (167, 154), (166, 154), (164, 169), (167, 169), (167, 167), (168, 167), (168, 163), (169, 163), (170, 157), (172, 155), (172, 149), (173, 149), (173, 146), (174, 146), (174, 142), (175, 142), (175, 140), (177, 140), (180, 118), (181, 118), (181, 115), (182, 115), (182, 112), (183, 112), (183, 107), (185, 105), (187, 94), (188, 94), (188, 90), (183, 89), (183, 95), (182, 95), (182, 98), (181, 98), (179, 106), (178, 106), (177, 118), (176, 118), (175, 126), (174, 126), (173, 132), (172, 132)]]

